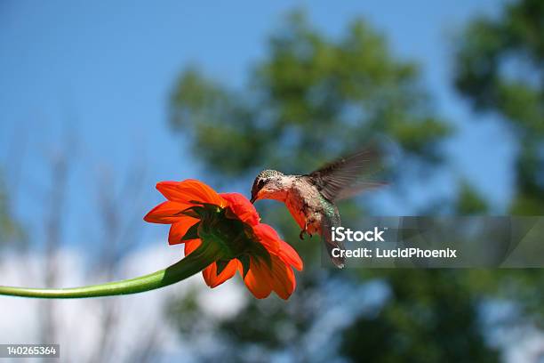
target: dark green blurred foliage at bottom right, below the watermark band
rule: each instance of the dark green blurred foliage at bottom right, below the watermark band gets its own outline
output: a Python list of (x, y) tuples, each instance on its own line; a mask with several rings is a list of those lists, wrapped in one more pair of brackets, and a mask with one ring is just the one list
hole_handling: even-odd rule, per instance
[[(395, 301), (361, 315), (346, 330), (341, 351), (354, 361), (496, 362), (475, 321), (475, 295), (457, 271), (395, 273)], [(380, 347), (378, 349), (377, 347)]]

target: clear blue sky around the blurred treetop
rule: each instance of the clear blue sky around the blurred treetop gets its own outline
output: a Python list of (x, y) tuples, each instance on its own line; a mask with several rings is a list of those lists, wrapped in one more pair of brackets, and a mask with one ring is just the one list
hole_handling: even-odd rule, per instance
[[(286, 12), (303, 7), (330, 36), (362, 16), (387, 36), (397, 55), (418, 61), (437, 111), (460, 130), (448, 144), (452, 170), (503, 206), (512, 182), (512, 142), (497, 120), (476, 117), (454, 93), (450, 63), (460, 26), (477, 14), (496, 14), (502, 3), (4, 1), (0, 161), (17, 163), (24, 150), (20, 190), (46, 187), (48, 162), (69, 125), (78, 134), (70, 180), (75, 201), (69, 206), (76, 218), (84, 218), (78, 212), (82, 190), (92, 189), (105, 165), (121, 170), (135, 160), (145, 163), (148, 196), (158, 201), (155, 181), (199, 174), (167, 126), (168, 95), (180, 71), (196, 63), (227, 85), (244, 85), (248, 69), (266, 55), (268, 34)], [(451, 177), (444, 174), (437, 189), (449, 188)], [(32, 194), (26, 197), (17, 212), (28, 219), (37, 203)]]

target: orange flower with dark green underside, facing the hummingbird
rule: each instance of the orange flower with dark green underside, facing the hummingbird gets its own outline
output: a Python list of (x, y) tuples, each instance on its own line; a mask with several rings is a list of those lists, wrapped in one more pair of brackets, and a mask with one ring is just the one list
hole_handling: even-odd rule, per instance
[(201, 181), (161, 181), (166, 199), (144, 220), (172, 224), (168, 242), (185, 243), (185, 255), (203, 243), (220, 246), (216, 262), (203, 270), (210, 287), (240, 272), (245, 285), (262, 299), (272, 291), (287, 299), (296, 286), (292, 267), (302, 270), (299, 254), (272, 227), (260, 223), (252, 203), (239, 193), (218, 194)]

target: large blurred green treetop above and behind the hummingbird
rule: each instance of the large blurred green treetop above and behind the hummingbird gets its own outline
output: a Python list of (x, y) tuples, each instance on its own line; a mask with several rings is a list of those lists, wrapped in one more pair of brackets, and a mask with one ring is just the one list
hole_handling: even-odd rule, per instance
[(332, 41), (296, 12), (268, 49), (243, 92), (189, 69), (172, 94), (172, 126), (222, 176), (263, 165), (308, 171), (377, 133), (408, 161), (437, 157), (450, 127), (430, 109), (417, 66), (396, 60), (364, 21)]

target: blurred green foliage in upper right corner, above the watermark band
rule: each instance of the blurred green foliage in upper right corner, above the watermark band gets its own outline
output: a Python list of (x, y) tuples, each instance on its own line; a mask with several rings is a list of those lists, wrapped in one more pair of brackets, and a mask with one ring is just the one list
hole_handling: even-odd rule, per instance
[(472, 21), (456, 52), (460, 93), (499, 114), (518, 141), (514, 214), (544, 213), (543, 19), (540, 0), (508, 4), (496, 19)]

